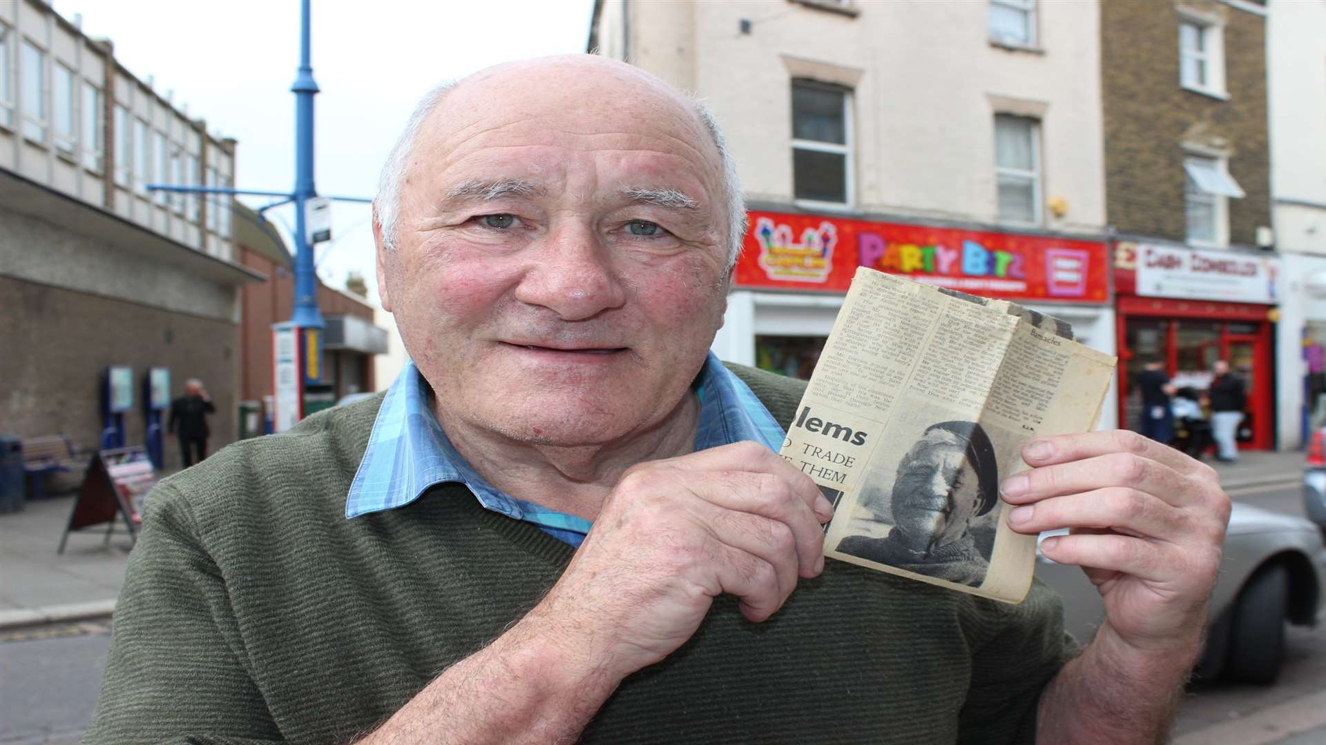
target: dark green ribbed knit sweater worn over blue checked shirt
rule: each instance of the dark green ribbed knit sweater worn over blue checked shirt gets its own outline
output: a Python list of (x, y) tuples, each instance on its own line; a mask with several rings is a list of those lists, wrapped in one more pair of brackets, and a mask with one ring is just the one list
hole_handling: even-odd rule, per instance
[[(786, 427), (804, 383), (733, 370)], [(343, 742), (533, 607), (569, 545), (444, 484), (354, 520), (381, 396), (164, 480), (115, 607), (86, 742)], [(765, 623), (720, 597), (585, 742), (1021, 742), (1062, 663), (1058, 597), (1018, 606), (829, 562)]]

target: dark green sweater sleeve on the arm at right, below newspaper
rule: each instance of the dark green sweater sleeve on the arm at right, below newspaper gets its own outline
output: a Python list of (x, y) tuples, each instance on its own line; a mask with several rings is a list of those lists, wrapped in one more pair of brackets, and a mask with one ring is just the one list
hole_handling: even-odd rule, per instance
[(959, 717), (959, 742), (1036, 742), (1041, 691), (1075, 648), (1063, 631), (1063, 603), (1033, 581), (1020, 604), (975, 601), (988, 614), (972, 650), (972, 679)]

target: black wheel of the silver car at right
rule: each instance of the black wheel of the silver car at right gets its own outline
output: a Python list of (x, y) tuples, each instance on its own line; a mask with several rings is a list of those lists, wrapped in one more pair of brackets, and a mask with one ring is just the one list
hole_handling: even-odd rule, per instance
[(1235, 606), (1225, 676), (1264, 685), (1276, 681), (1285, 659), (1288, 606), (1289, 571), (1280, 565), (1257, 570)]

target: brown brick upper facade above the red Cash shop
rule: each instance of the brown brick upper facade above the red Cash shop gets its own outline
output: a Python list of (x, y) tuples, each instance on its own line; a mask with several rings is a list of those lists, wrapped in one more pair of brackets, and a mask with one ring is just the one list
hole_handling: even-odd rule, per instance
[[(1193, 9), (1221, 23), (1224, 98), (1180, 84), (1177, 28)], [(1185, 146), (1228, 154), (1246, 194), (1229, 203), (1228, 244), (1270, 225), (1265, 17), (1215, 0), (1101, 4), (1106, 219), (1115, 231), (1184, 243)]]

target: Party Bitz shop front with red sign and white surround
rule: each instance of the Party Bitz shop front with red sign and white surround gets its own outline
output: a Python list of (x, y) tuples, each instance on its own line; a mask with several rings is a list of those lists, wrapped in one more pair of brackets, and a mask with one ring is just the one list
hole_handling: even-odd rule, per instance
[[(809, 378), (858, 266), (1014, 300), (1114, 354), (1105, 243), (765, 211), (749, 213), (715, 353)], [(1107, 399), (1102, 426), (1113, 426), (1114, 411)]]

